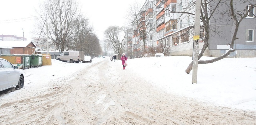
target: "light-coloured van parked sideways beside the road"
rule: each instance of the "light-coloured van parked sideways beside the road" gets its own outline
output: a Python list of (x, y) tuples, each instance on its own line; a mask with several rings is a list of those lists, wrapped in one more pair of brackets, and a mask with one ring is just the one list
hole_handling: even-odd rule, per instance
[(56, 60), (70, 63), (84, 61), (84, 51), (63, 51), (56, 57)]

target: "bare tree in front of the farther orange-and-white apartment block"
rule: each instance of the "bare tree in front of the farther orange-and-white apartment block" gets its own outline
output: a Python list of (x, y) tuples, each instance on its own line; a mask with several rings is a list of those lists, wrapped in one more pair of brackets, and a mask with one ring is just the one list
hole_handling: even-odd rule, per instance
[[(149, 1), (146, 4), (146, 10), (140, 10), (142, 8), (140, 4), (136, 1), (134, 5), (130, 6), (130, 9), (128, 10), (128, 15), (126, 19), (129, 21), (129, 25), (133, 26), (136, 29), (136, 33), (139, 35), (139, 40), (143, 40), (143, 49), (144, 53), (147, 53), (146, 50), (146, 42), (149, 40), (149, 35), (152, 35), (152, 32), (155, 29), (155, 20), (154, 15), (155, 12), (153, 11), (153, 2)], [(146, 13), (147, 11), (147, 13)], [(137, 30), (138, 29), (138, 30)], [(152, 39), (152, 36), (151, 36)]]

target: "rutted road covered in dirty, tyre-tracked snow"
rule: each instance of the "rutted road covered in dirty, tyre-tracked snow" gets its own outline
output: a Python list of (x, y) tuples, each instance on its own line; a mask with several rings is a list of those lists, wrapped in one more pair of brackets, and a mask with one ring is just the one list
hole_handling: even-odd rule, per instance
[(253, 111), (166, 93), (118, 63), (74, 63), (79, 72), (45, 80), (31, 94), (23, 88), (1, 94), (1, 125), (256, 124)]

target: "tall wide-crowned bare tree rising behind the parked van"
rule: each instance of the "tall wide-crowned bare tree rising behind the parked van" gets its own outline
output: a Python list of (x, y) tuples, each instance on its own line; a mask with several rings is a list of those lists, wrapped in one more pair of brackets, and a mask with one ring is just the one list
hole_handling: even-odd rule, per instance
[[(59, 48), (60, 52), (68, 49), (74, 30), (74, 22), (80, 17), (79, 6), (77, 0), (48, 0), (40, 6), (40, 15), (47, 14), (48, 32), (50, 44)], [(39, 24), (44, 24), (45, 17)], [(41, 25), (39, 25), (40, 27)], [(42, 27), (41, 27), (42, 28)], [(46, 37), (46, 31), (42, 31), (42, 35)], [(50, 42), (49, 41), (49, 42)]]

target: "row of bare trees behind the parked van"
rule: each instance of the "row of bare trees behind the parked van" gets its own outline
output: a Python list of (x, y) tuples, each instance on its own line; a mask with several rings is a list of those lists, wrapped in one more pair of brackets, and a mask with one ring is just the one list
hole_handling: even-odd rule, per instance
[[(47, 0), (40, 4), (38, 11), (41, 18), (37, 21), (37, 29), (45, 29), (46, 14), (48, 22), (49, 46), (64, 50), (80, 50), (93, 57), (100, 55), (102, 49), (93, 27), (80, 12), (77, 0)], [(41, 42), (46, 42), (47, 31), (41, 30)]]

